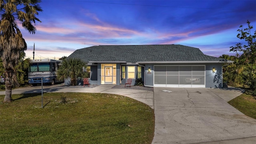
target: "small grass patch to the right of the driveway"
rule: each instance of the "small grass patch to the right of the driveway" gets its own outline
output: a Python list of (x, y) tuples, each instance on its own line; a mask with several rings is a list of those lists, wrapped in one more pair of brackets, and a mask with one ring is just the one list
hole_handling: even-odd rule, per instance
[(246, 90), (244, 94), (230, 100), (228, 103), (246, 116), (256, 119), (256, 99), (253, 97), (252, 91)]

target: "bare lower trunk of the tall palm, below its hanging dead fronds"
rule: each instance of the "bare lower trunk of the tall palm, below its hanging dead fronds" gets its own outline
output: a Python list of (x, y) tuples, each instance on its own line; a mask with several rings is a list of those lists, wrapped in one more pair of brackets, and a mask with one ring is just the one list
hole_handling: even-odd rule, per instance
[(4, 102), (12, 102), (12, 73), (13, 70), (5, 71), (5, 97)]

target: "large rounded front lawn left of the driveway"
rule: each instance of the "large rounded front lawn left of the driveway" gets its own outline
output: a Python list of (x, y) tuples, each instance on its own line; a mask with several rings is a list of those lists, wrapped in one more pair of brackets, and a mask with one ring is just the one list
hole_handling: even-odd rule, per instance
[[(151, 144), (154, 110), (113, 94), (13, 94), (0, 96), (1, 144)], [(62, 102), (66, 99), (66, 103)]]

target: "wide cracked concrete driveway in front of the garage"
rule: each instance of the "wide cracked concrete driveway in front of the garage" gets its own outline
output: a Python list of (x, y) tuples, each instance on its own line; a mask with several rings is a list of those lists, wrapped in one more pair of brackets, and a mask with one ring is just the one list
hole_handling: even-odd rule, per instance
[(230, 89), (154, 88), (152, 144), (255, 144), (256, 120), (226, 102), (240, 94)]

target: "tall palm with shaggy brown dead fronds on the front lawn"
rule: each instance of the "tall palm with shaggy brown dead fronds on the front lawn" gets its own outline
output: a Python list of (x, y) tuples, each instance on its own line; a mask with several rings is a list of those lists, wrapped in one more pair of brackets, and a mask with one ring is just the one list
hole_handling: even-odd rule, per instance
[(40, 2), (41, 0), (0, 0), (0, 58), (6, 80), (4, 102), (12, 101), (14, 68), (19, 62), (20, 54), (27, 49), (16, 20), (20, 21), (22, 27), (30, 34), (35, 34), (33, 23), (41, 22), (35, 16), (42, 12), (38, 4)]

